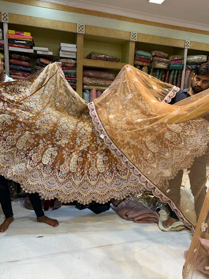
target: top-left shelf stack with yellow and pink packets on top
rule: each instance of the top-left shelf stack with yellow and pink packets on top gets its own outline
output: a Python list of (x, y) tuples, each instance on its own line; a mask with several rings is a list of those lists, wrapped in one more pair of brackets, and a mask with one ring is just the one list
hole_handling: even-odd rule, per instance
[(9, 51), (33, 53), (34, 41), (30, 32), (8, 30)]

